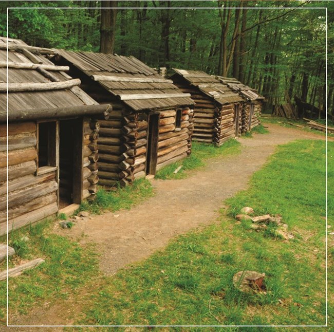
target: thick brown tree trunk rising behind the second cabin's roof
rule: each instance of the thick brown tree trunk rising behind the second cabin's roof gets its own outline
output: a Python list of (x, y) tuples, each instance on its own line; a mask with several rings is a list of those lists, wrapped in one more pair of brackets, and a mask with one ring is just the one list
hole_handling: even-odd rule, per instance
[(114, 53), (118, 1), (101, 1), (100, 52)]

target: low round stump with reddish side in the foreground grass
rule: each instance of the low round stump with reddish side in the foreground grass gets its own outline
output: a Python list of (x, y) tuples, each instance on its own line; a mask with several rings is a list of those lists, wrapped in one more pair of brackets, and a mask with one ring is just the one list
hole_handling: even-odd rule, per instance
[(265, 273), (239, 271), (233, 276), (233, 285), (235, 288), (246, 293), (264, 292), (266, 290), (264, 279)]

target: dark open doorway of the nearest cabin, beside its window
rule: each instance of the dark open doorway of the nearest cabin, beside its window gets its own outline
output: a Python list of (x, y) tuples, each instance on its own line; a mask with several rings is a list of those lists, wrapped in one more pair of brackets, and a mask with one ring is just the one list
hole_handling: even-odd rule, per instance
[(59, 207), (81, 203), (82, 120), (59, 121)]

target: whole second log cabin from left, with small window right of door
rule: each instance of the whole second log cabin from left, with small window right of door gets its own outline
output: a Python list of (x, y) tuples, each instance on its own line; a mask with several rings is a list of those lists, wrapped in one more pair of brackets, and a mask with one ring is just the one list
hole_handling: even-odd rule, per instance
[(124, 187), (191, 153), (194, 101), (171, 80), (134, 57), (59, 50), (51, 61), (69, 66), (89, 96), (113, 106), (98, 121), (100, 185)]

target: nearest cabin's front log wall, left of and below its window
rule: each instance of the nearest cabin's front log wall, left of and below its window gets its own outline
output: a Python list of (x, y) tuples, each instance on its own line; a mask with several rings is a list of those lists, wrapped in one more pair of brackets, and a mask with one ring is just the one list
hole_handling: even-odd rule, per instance
[[(1, 124), (0, 235), (7, 232), (7, 125)], [(8, 219), (17, 229), (58, 211), (57, 171), (36, 175), (36, 123), (8, 127)], [(5, 150), (5, 151), (4, 151)]]

